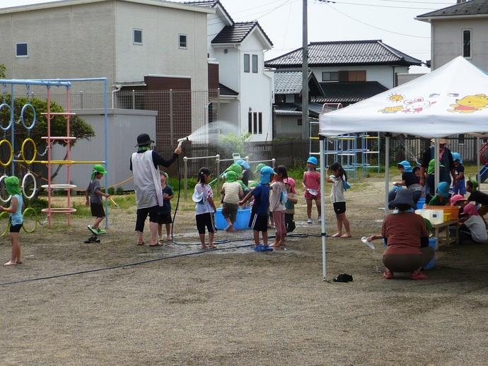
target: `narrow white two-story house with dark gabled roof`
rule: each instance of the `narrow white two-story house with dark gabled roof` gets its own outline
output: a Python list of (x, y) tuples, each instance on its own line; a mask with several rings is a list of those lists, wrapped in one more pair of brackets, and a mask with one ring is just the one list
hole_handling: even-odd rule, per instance
[(185, 4), (215, 9), (207, 16), (207, 56), (209, 83), (221, 90), (218, 119), (236, 124), (250, 141), (271, 140), (273, 80), (265, 71), (271, 40), (256, 20), (234, 22), (219, 0)]

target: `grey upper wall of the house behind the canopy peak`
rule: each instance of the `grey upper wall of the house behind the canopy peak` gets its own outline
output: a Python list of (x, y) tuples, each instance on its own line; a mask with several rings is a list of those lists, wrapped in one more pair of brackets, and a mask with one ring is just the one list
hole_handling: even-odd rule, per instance
[(472, 35), (472, 58), (467, 58), (477, 67), (488, 71), (488, 20), (470, 18), (467, 20), (433, 20), (432, 70), (447, 64), (463, 54), (463, 30), (470, 29)]

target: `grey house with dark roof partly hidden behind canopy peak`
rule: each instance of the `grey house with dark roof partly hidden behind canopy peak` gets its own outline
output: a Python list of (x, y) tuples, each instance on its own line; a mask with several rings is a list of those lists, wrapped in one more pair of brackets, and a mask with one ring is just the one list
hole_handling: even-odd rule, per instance
[(458, 4), (415, 18), (431, 25), (431, 68), (463, 56), (488, 71), (488, 1), (458, 0)]

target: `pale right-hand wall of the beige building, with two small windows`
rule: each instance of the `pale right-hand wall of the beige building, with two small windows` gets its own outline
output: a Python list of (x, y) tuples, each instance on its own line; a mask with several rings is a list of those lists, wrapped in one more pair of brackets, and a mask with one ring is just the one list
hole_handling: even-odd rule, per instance
[[(132, 44), (132, 29), (142, 30), (143, 45)], [(207, 90), (207, 13), (117, 1), (117, 82), (144, 75), (190, 76), (193, 90)], [(187, 48), (178, 35), (187, 35)]]

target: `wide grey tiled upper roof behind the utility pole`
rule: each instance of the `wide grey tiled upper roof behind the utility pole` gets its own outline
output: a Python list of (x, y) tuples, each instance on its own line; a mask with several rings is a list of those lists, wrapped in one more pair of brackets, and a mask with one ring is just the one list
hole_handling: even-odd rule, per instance
[[(300, 67), (302, 48), (265, 61), (267, 67)], [(308, 45), (308, 66), (350, 66), (395, 64), (420, 66), (422, 61), (385, 45), (381, 40), (311, 42)]]

